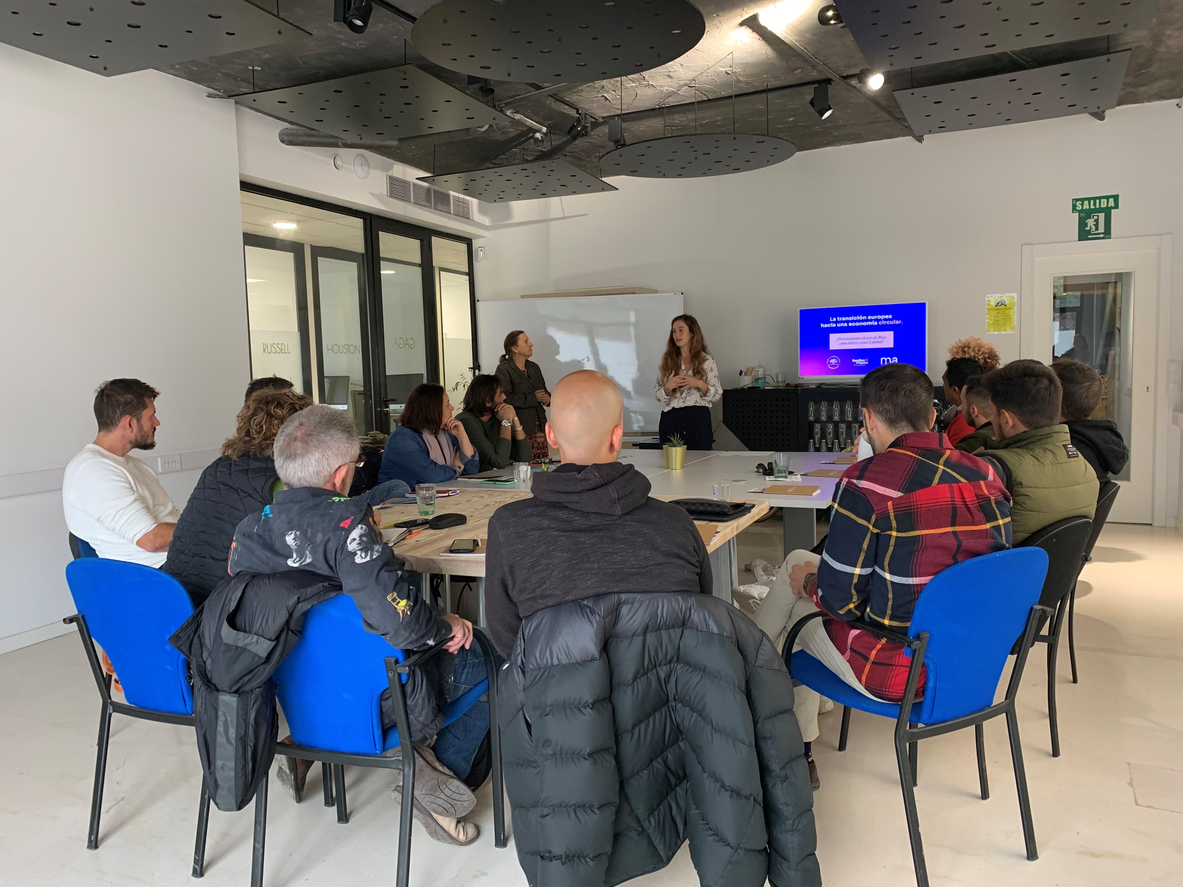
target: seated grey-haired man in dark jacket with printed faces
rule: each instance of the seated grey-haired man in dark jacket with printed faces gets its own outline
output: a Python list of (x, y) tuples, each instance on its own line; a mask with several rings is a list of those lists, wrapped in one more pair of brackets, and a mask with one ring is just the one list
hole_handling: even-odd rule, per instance
[[(434, 753), (420, 749), (416, 760), (415, 816), (438, 841), (471, 843), (477, 827), (458, 817), (472, 809), (476, 798), (461, 779), (468, 776), (489, 731), (489, 707), (478, 704), (447, 727), (440, 730), (440, 725), (444, 706), (485, 678), (479, 647), (472, 643), (472, 623), (440, 614), (420, 596), (408, 583), (402, 562), (382, 544), (369, 504), (347, 497), (358, 444), (357, 429), (345, 413), (325, 406), (296, 413), (276, 435), (273, 452), (276, 472), (287, 488), (238, 525), (231, 575), (306, 570), (331, 576), (354, 598), (366, 629), (393, 646), (415, 650), (450, 639), (446, 649), (455, 655), (437, 654), (407, 684), (415, 740), (435, 738)], [(383, 726), (394, 724), (388, 697), (384, 693), (382, 699)], [(293, 766), (300, 765), (290, 758), (280, 760), (277, 776), (299, 799), (306, 763), (303, 772)]]

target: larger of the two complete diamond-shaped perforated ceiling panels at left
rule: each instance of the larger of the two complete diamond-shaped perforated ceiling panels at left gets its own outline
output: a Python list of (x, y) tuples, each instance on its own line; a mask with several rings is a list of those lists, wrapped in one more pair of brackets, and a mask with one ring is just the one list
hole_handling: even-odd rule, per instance
[(235, 96), (279, 119), (342, 138), (406, 138), (513, 122), (414, 65)]

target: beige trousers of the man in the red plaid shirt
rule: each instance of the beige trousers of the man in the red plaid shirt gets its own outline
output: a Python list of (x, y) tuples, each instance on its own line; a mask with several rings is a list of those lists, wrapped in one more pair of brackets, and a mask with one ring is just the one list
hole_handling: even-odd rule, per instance
[[(776, 575), (772, 587), (768, 590), (768, 595), (761, 602), (756, 615), (752, 617), (756, 624), (763, 629), (764, 634), (776, 642), (778, 653), (783, 653), (786, 637), (797, 620), (817, 611), (817, 607), (808, 597), (797, 597), (793, 594), (793, 588), (789, 585), (789, 570), (797, 564), (807, 562), (816, 566), (819, 561), (820, 556), (812, 551), (799, 549), (790, 552), (784, 558), (784, 563), (781, 565), (781, 571)], [(859, 684), (859, 679), (854, 675), (854, 669), (851, 668), (849, 662), (842, 659), (842, 654), (838, 652), (838, 647), (829, 640), (829, 635), (826, 634), (821, 620), (812, 620), (801, 629), (793, 649), (794, 652), (803, 649), (860, 693), (875, 699), (872, 693), (867, 692), (866, 687)], [(821, 704), (821, 697), (816, 691), (809, 689), (806, 686), (794, 687), (793, 692), (795, 697), (793, 712), (797, 716), (797, 724), (801, 726), (801, 738), (807, 743), (812, 743), (817, 738), (819, 733), (817, 707)]]

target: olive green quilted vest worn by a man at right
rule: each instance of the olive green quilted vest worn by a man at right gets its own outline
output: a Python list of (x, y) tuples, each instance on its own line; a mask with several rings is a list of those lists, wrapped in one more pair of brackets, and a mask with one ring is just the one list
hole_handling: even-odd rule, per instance
[(1002, 468), (1000, 474), (1010, 491), (1015, 545), (1048, 524), (1078, 516), (1091, 519), (1097, 510), (1097, 473), (1072, 446), (1066, 425), (988, 440), (985, 452), (978, 455)]

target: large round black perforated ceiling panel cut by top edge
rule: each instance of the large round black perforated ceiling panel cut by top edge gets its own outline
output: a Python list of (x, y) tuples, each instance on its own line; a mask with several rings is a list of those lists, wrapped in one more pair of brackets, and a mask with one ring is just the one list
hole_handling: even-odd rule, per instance
[(705, 31), (687, 0), (442, 0), (419, 18), (412, 39), (451, 71), (590, 83), (673, 61)]

